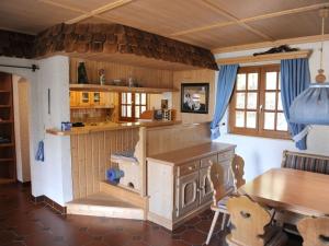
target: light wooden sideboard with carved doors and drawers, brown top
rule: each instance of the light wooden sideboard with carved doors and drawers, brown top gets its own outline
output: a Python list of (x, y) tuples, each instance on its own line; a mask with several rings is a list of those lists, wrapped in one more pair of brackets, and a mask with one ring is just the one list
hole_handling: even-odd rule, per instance
[[(219, 179), (232, 183), (235, 145), (208, 142), (147, 157), (148, 220), (174, 230), (208, 209), (213, 190), (208, 167), (219, 165)], [(213, 174), (212, 174), (213, 175)]]

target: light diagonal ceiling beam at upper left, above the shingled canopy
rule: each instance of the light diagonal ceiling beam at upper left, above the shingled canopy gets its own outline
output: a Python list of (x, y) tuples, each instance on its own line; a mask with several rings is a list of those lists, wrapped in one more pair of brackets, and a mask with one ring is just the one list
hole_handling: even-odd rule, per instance
[(111, 2), (109, 4), (102, 5), (102, 7), (95, 9), (95, 10), (92, 10), (90, 12), (83, 13), (82, 15), (80, 15), (78, 17), (75, 17), (75, 19), (71, 19), (69, 21), (66, 21), (65, 23), (66, 24), (75, 24), (75, 23), (81, 22), (86, 19), (92, 17), (92, 16), (98, 16), (99, 14), (102, 14), (104, 12), (109, 12), (111, 10), (124, 7), (126, 4), (132, 3), (133, 1), (134, 0), (117, 0), (115, 2)]

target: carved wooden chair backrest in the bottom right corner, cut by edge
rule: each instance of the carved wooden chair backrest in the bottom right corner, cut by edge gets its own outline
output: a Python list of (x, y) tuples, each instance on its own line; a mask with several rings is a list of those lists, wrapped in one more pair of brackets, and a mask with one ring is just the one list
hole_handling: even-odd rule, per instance
[(329, 245), (329, 218), (306, 218), (298, 222), (303, 246)]

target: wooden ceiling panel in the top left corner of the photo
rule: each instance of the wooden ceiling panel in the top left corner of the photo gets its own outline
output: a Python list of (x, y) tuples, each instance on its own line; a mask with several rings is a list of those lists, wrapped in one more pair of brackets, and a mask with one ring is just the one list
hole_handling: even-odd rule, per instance
[(79, 12), (35, 0), (0, 1), (0, 28), (36, 34), (49, 26), (77, 17)]

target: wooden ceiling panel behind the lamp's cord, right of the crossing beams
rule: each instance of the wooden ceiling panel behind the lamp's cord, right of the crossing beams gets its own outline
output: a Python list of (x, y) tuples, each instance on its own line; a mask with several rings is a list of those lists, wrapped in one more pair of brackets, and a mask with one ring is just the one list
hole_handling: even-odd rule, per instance
[[(326, 33), (329, 33), (329, 19), (326, 20)], [(319, 35), (321, 19), (318, 11), (271, 17), (248, 23), (276, 39)]]

